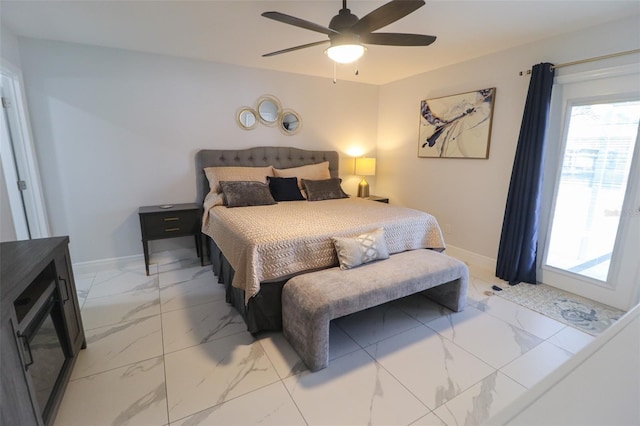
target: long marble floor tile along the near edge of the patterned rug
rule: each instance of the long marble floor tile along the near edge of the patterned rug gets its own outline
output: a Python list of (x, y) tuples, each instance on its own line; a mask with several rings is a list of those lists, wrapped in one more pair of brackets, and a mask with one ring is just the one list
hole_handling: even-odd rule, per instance
[(561, 322), (498, 296), (488, 297), (478, 302), (476, 307), (541, 339), (548, 339), (566, 327)]

